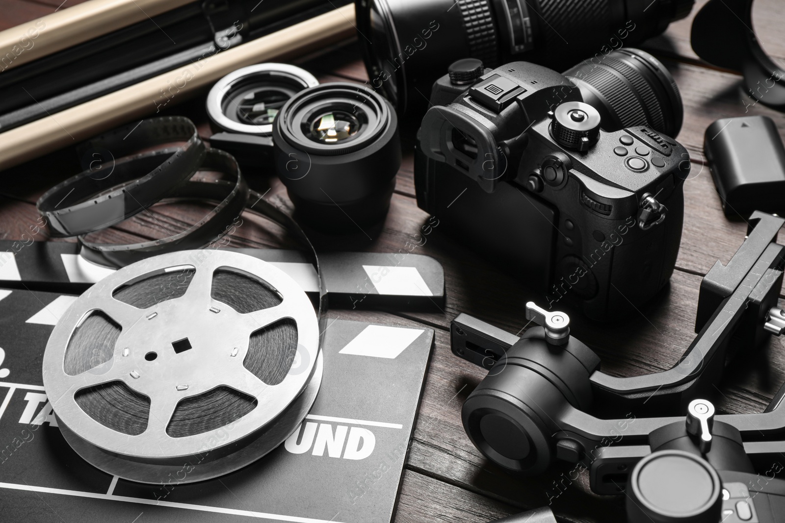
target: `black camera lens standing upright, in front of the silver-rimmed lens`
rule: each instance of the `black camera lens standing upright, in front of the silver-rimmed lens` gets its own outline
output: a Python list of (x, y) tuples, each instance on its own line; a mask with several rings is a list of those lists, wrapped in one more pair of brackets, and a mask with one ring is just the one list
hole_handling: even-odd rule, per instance
[(292, 97), (272, 127), (276, 170), (301, 220), (324, 231), (382, 220), (401, 161), (387, 100), (362, 85), (317, 85)]

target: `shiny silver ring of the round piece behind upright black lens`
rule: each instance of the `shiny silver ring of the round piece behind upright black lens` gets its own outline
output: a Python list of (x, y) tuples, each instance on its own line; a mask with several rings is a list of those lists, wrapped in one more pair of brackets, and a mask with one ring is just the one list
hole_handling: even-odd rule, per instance
[(221, 129), (232, 133), (262, 136), (272, 133), (272, 123), (251, 125), (236, 122), (229, 118), (224, 111), (225, 101), (231, 93), (257, 82), (259, 85), (268, 84), (275, 88), (277, 84), (281, 87), (294, 88), (293, 90), (297, 91), (319, 85), (319, 81), (313, 74), (290, 64), (271, 63), (242, 67), (221, 78), (210, 89), (210, 93), (207, 94), (207, 114), (210, 120)]

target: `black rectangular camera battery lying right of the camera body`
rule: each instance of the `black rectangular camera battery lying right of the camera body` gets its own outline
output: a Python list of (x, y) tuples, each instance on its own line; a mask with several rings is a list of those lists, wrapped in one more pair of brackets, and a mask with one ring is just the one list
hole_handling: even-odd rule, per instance
[(703, 149), (725, 216), (785, 214), (785, 147), (771, 118), (721, 118), (706, 130)]

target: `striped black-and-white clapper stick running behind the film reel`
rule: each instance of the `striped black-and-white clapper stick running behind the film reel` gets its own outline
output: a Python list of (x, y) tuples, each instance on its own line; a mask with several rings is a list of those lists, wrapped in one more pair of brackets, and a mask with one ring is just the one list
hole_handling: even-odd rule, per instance
[[(280, 249), (226, 249), (272, 263), (319, 292), (316, 269), (301, 252)], [(408, 252), (327, 252), (319, 265), (330, 307), (422, 310), (444, 307), (444, 269), (430, 256)], [(79, 244), (0, 241), (0, 286), (79, 294), (113, 269), (79, 256)], [(22, 285), (24, 284), (24, 285)]]

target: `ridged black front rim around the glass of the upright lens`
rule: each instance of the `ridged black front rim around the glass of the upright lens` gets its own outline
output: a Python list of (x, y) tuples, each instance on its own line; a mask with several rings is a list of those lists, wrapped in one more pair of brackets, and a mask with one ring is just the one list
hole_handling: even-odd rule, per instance
[[(359, 122), (355, 133), (331, 143), (320, 143), (303, 129), (312, 129), (316, 118), (335, 112), (352, 114)], [(280, 136), (309, 154), (338, 156), (360, 151), (392, 125), (392, 108), (371, 89), (348, 82), (317, 85), (295, 95), (281, 108), (275, 124)]]

